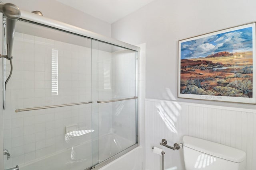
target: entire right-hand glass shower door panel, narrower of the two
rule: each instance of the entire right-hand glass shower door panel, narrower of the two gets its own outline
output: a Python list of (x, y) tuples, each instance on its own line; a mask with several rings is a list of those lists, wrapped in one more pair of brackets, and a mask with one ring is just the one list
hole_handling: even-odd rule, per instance
[[(136, 144), (136, 52), (98, 43), (99, 162)], [(107, 103), (105, 103), (107, 102)]]

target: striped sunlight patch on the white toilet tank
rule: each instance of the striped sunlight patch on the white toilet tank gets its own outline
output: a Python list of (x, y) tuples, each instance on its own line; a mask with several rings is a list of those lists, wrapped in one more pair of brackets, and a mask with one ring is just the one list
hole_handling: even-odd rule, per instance
[(206, 168), (206, 166), (210, 166), (216, 162), (216, 158), (207, 154), (200, 154), (196, 160), (195, 168), (201, 169)]

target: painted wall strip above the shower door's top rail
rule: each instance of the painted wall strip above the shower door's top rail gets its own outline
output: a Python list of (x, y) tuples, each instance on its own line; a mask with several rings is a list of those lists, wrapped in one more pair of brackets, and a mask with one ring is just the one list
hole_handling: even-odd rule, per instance
[(25, 11), (41, 11), (47, 18), (62, 21), (111, 37), (111, 25), (55, 0), (2, 0)]

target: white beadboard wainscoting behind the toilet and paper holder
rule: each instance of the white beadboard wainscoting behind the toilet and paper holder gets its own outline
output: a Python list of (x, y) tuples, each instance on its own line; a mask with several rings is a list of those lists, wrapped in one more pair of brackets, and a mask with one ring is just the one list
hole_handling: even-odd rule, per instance
[(256, 110), (152, 99), (146, 99), (145, 107), (146, 170), (162, 167), (162, 156), (153, 154), (153, 146), (166, 151), (166, 170), (184, 170), (182, 149), (160, 145), (163, 138), (169, 145), (181, 143), (184, 135), (244, 150), (246, 170), (256, 169)]

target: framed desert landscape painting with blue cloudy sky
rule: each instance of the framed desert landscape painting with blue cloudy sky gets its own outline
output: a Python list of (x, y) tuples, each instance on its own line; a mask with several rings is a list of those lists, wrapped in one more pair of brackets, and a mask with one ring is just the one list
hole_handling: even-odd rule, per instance
[(255, 25), (178, 41), (178, 98), (256, 104)]

